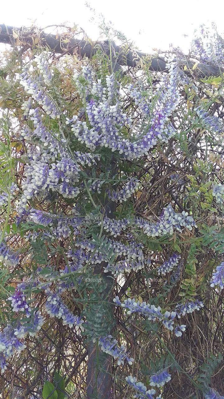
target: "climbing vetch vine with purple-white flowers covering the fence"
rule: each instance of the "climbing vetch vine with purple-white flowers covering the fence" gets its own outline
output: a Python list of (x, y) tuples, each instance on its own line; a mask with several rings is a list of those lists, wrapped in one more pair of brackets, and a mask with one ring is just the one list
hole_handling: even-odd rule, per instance
[[(192, 58), (221, 65), (212, 40), (214, 53), (195, 39)], [(0, 75), (2, 99), (14, 88), (1, 111), (0, 367), (7, 384), (25, 376), (29, 398), (43, 386), (61, 398), (219, 395), (198, 369), (210, 330), (222, 348), (210, 306), (224, 286), (222, 78), (167, 55), (166, 75), (145, 60), (139, 79), (104, 53), (37, 46)]]

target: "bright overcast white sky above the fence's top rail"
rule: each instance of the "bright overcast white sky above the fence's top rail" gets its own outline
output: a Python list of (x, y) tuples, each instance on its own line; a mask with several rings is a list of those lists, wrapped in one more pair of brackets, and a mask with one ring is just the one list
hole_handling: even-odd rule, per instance
[[(69, 22), (82, 26), (90, 38), (98, 38), (98, 20), (85, 6), (86, 0), (9, 0), (0, 5), (0, 24), (41, 28)], [(139, 49), (150, 52), (166, 50), (169, 44), (180, 46), (185, 53), (195, 28), (215, 22), (218, 32), (224, 31), (224, 0), (89, 0), (88, 3), (110, 20)], [(184, 35), (188, 35), (185, 37)]]

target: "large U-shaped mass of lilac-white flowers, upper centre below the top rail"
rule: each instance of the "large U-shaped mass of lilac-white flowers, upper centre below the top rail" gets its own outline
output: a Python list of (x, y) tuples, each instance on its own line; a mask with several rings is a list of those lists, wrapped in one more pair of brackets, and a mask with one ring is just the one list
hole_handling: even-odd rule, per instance
[[(120, 103), (118, 101), (111, 105), (112, 92), (117, 82), (114, 82), (114, 76), (111, 75), (107, 80), (108, 99), (105, 101), (104, 96), (97, 95), (98, 101), (95, 99), (96, 87), (98, 93), (103, 93), (103, 86), (101, 81), (96, 82), (94, 72), (91, 68), (83, 67), (82, 72), (76, 76), (77, 89), (79, 95), (87, 102), (86, 112), (88, 120), (92, 128), (88, 129), (86, 122), (77, 120), (76, 124), (72, 125), (72, 130), (75, 136), (81, 143), (84, 143), (87, 148), (94, 150), (97, 146), (104, 146), (110, 148), (112, 151), (118, 151), (125, 159), (136, 159), (147, 155), (149, 150), (157, 143), (157, 140), (168, 142), (169, 138), (175, 134), (175, 128), (169, 121), (169, 116), (179, 103), (179, 92), (177, 90), (179, 64), (175, 63), (175, 67), (170, 63), (169, 65), (170, 79), (166, 85), (169, 89), (168, 98), (163, 95), (159, 97), (156, 112), (150, 121), (150, 126), (143, 137), (138, 138), (137, 141), (131, 141), (119, 135), (119, 130), (126, 124), (130, 126), (131, 120), (121, 111)], [(83, 83), (83, 78), (85, 84)], [(110, 85), (109, 85), (110, 81)], [(101, 88), (100, 88), (101, 85)], [(118, 85), (119, 86), (119, 85)], [(113, 90), (112, 90), (113, 87)], [(142, 113), (149, 116), (149, 106), (141, 94), (137, 94), (137, 89), (129, 87), (130, 94)], [(104, 92), (105, 93), (105, 92)], [(117, 92), (118, 94), (118, 92)], [(94, 97), (91, 98), (91, 97)], [(116, 101), (116, 95), (114, 97)]]

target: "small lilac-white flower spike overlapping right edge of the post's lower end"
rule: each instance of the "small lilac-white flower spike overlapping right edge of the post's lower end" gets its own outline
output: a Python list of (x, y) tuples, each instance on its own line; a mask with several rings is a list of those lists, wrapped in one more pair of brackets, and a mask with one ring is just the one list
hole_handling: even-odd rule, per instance
[(120, 348), (118, 348), (117, 343), (118, 343), (118, 341), (115, 340), (112, 337), (112, 335), (107, 335), (106, 337), (101, 337), (99, 339), (100, 349), (103, 352), (108, 353), (110, 356), (113, 356), (114, 359), (117, 359), (119, 366), (121, 364), (124, 364), (124, 360), (127, 360), (128, 364), (132, 365), (134, 359), (128, 357), (128, 355), (125, 352), (124, 345), (122, 345), (122, 346), (120, 346)]

